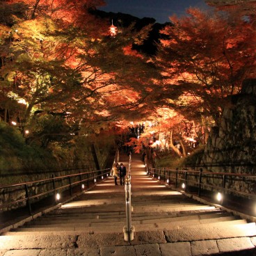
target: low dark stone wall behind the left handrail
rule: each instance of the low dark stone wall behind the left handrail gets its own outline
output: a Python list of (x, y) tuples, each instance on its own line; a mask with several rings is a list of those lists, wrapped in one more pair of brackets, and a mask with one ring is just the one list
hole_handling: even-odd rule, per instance
[[(111, 158), (111, 154), (113, 151), (109, 150), (109, 148), (105, 147), (104, 149), (99, 149), (96, 147), (97, 153), (97, 161), (100, 169), (108, 168), (106, 163), (108, 163), (109, 158)], [(113, 156), (114, 157), (114, 156)], [(88, 163), (87, 167), (79, 168), (79, 166), (74, 165), (74, 168), (69, 168), (66, 170), (38, 170), (38, 171), (26, 171), (20, 172), (15, 171), (15, 173), (8, 173), (6, 175), (1, 175), (0, 177), (0, 184), (1, 186), (7, 184), (20, 184), (26, 182), (34, 182), (42, 179), (49, 179), (53, 175), (54, 177), (61, 177), (65, 175), (71, 175), (75, 173), (88, 173), (93, 170), (97, 170), (97, 164), (95, 163), (95, 159), (93, 157), (93, 152), (87, 150), (86, 155), (84, 156), (84, 163)], [(83, 164), (84, 166), (84, 164)], [(82, 179), (86, 179), (87, 175), (84, 175)], [(78, 182), (80, 177), (72, 177), (72, 182)], [(68, 178), (66, 179), (56, 179), (56, 187), (64, 186), (69, 184)], [(53, 182), (40, 182), (38, 186), (29, 186), (29, 196), (37, 195), (39, 193), (44, 193), (46, 191), (54, 189)], [(68, 187), (65, 189), (69, 189)], [(61, 192), (61, 191), (60, 191)], [(49, 195), (47, 195), (49, 196)], [(26, 198), (26, 191), (24, 186), (15, 186), (10, 189), (0, 189), (0, 205), (6, 205), (8, 202), (14, 202), (15, 200), (22, 200)], [(38, 199), (42, 198), (35, 198), (32, 202), (35, 202)], [(19, 205), (10, 205), (9, 209), (14, 209), (17, 207), (21, 207), (26, 205), (26, 202), (20, 202)], [(3, 211), (6, 209), (0, 209)]]

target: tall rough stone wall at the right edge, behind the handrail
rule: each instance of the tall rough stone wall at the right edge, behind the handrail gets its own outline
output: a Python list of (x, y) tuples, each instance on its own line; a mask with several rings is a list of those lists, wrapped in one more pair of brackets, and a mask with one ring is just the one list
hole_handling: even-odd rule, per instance
[[(220, 127), (212, 127), (201, 166), (203, 170), (253, 174), (256, 171), (256, 79), (243, 81), (241, 93), (230, 97)], [(226, 188), (256, 193), (256, 179), (227, 180)], [(214, 180), (207, 183), (215, 184)], [(220, 184), (221, 186), (221, 180)]]

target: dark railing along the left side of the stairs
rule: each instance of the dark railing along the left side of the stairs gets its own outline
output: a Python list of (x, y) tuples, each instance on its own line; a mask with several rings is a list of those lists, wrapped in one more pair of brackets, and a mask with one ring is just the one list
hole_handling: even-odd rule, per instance
[[(35, 198), (42, 198), (43, 196), (51, 195), (52, 193), (54, 193), (54, 195), (56, 196), (56, 193), (60, 191), (65, 191), (65, 189), (67, 188), (70, 188), (70, 196), (72, 196), (72, 187), (78, 186), (79, 184), (82, 186), (83, 182), (87, 182), (87, 186), (89, 186), (90, 182), (95, 183), (95, 181), (97, 182), (100, 176), (104, 178), (104, 176), (107, 177), (109, 176), (109, 174), (110, 174), (110, 168), (106, 168), (102, 170), (93, 170), (90, 172), (74, 173), (74, 174), (62, 175), (58, 177), (54, 177), (53, 175), (53, 177), (47, 178), (47, 179), (38, 179), (31, 182), (21, 182), (17, 184), (3, 185), (3, 186), (0, 186), (1, 193), (4, 193), (4, 192), (15, 193), (17, 191), (25, 191), (26, 196), (22, 199), (17, 199), (17, 200), (13, 200), (12, 202), (3, 203), (3, 205), (0, 205), (0, 210), (8, 209), (11, 205), (18, 205), (19, 203), (26, 202), (29, 208), (29, 214), (32, 215), (31, 200)], [(86, 178), (83, 177), (84, 175), (86, 175)], [(73, 179), (75, 178), (76, 180), (72, 181), (72, 178)], [(79, 180), (77, 180), (78, 178)], [(68, 182), (67, 182), (67, 179), (68, 179)], [(60, 184), (60, 182), (62, 182), (62, 184)], [(49, 186), (50, 184), (52, 184), (52, 187), (47, 188), (47, 186)], [(29, 192), (37, 191), (35, 189), (33, 190), (33, 188), (40, 188), (40, 187), (46, 188), (47, 191), (43, 191), (40, 193), (40, 189), (38, 189), (39, 193), (30, 195)]]

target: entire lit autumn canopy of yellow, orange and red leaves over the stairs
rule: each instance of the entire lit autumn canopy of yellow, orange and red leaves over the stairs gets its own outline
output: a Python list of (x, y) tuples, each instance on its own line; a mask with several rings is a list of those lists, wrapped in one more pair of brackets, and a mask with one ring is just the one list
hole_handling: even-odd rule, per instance
[(227, 97), (255, 75), (255, 17), (189, 8), (159, 26), (152, 55), (139, 47), (152, 24), (111, 36), (109, 19), (92, 11), (103, 4), (1, 1), (1, 121), (42, 147), (147, 120), (177, 155), (205, 143)]

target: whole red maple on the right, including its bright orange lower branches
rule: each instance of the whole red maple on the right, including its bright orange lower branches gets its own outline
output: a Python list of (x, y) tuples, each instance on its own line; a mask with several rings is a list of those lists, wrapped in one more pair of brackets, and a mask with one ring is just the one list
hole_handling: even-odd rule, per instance
[[(229, 13), (190, 8), (188, 14), (171, 17), (172, 24), (161, 31), (165, 38), (154, 62), (161, 78), (147, 95), (151, 106), (160, 109), (154, 129), (166, 131), (164, 137), (178, 155), (182, 153), (172, 145), (173, 138), (183, 152), (195, 138), (205, 144), (209, 127), (219, 125), (229, 104), (227, 96), (239, 93), (243, 79), (255, 75), (253, 15), (239, 8)], [(165, 109), (174, 112), (166, 118), (161, 113)]]

